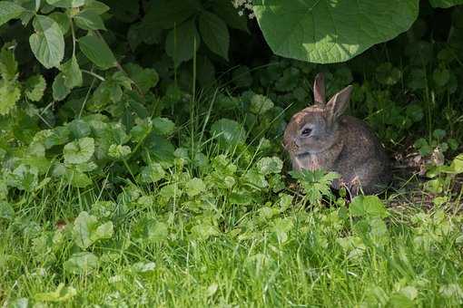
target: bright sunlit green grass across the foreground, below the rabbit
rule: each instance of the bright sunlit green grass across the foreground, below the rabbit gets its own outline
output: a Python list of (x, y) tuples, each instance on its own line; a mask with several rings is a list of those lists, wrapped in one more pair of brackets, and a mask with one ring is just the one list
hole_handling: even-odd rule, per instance
[[(462, 217), (443, 209), (391, 209), (387, 233), (375, 234), (362, 230), (345, 207), (295, 204), (271, 216), (217, 197), (215, 211), (196, 216), (182, 206), (188, 198), (177, 200), (172, 214), (126, 194), (114, 203), (112, 238), (87, 249), (100, 257), (99, 266), (70, 274), (64, 262), (78, 250), (66, 236), (73, 224), (62, 231), (57, 224), (91, 210), (98, 191), (81, 193), (45, 188), (24, 197), (14, 219), (0, 220), (0, 302), (35, 303), (37, 294), (61, 283), (76, 294), (56, 306), (442, 307), (463, 301)], [(143, 195), (156, 200), (157, 193)], [(192, 225), (207, 216), (222, 217), (219, 232), (195, 236)], [(168, 226), (163, 240), (137, 240), (136, 228), (147, 217)], [(45, 234), (64, 238), (37, 244)], [(343, 248), (342, 238), (351, 245)], [(133, 266), (138, 262), (154, 266), (142, 273)]]

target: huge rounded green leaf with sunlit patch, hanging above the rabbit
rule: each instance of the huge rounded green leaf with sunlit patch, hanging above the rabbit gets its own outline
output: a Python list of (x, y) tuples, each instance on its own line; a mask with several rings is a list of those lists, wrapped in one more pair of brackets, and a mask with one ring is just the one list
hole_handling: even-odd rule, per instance
[(339, 63), (407, 31), (419, 0), (255, 0), (262, 33), (281, 56)]

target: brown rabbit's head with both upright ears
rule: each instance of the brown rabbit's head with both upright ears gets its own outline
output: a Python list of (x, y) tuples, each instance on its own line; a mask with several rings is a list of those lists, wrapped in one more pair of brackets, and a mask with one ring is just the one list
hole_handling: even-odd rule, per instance
[(286, 127), (283, 146), (291, 155), (319, 153), (330, 149), (342, 138), (338, 121), (346, 111), (352, 86), (325, 100), (325, 84), (321, 73), (313, 84), (314, 105), (292, 116)]

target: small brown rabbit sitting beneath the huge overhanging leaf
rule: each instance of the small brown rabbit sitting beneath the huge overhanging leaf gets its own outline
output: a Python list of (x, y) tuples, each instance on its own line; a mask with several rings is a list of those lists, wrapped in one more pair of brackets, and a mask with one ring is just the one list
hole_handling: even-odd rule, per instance
[(323, 75), (313, 84), (315, 104), (292, 116), (283, 145), (292, 168), (335, 171), (341, 178), (331, 187), (345, 187), (351, 196), (378, 193), (390, 181), (389, 159), (374, 133), (362, 120), (342, 115), (352, 86), (325, 100)]

